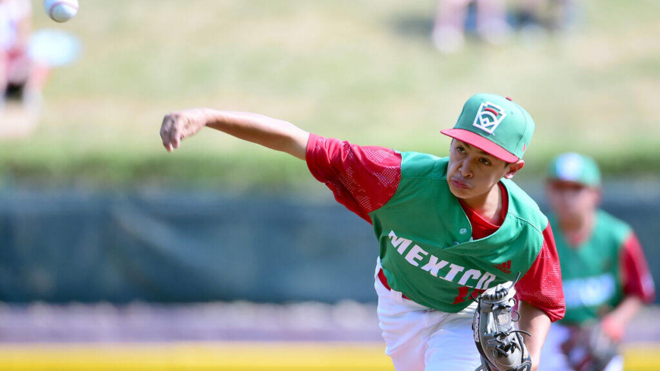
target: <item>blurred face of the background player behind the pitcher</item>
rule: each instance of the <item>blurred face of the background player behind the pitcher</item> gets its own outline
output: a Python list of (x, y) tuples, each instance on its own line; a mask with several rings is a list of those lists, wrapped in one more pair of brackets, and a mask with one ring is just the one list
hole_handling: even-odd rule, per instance
[(574, 182), (553, 181), (546, 185), (548, 203), (560, 220), (583, 219), (593, 213), (601, 199), (599, 188)]

